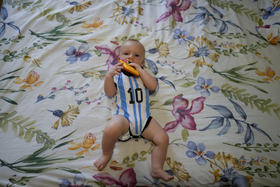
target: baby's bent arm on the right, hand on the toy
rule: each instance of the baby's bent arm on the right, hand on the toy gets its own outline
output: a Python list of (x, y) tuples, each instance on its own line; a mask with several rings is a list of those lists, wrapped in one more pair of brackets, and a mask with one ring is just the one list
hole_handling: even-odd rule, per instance
[(129, 63), (129, 65), (133, 66), (139, 72), (141, 80), (149, 90), (153, 91), (157, 89), (157, 81), (155, 77), (143, 70), (140, 65), (136, 63)]

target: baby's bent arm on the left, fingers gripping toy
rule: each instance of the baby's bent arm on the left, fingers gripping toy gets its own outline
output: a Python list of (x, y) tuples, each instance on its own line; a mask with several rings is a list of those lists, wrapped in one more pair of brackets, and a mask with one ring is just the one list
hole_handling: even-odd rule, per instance
[(114, 76), (121, 75), (120, 70), (123, 68), (122, 63), (117, 63), (105, 75), (104, 92), (107, 96), (112, 97), (115, 95), (117, 88), (114, 83)]

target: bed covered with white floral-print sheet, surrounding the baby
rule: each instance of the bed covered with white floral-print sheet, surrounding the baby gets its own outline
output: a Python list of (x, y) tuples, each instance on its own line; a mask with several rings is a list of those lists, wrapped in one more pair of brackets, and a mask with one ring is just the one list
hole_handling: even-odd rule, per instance
[[(280, 1), (3, 0), (0, 186), (280, 186)], [(111, 119), (104, 77), (120, 45), (139, 40), (151, 116), (169, 135), (117, 141), (102, 171)]]

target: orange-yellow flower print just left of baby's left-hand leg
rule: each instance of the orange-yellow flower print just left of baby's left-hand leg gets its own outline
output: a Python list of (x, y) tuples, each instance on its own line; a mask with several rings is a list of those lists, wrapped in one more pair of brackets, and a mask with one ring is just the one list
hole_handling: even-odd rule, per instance
[[(87, 156), (92, 156), (92, 154), (90, 154), (88, 149), (95, 143), (95, 141), (96, 141), (96, 137), (93, 136), (93, 134), (86, 133), (85, 137), (83, 139), (83, 142), (81, 142), (81, 143), (70, 142), (71, 146), (68, 147), (68, 149), (75, 150), (75, 149), (83, 147), (83, 148), (85, 148), (85, 150), (82, 150), (79, 153), (76, 153), (76, 155), (77, 156), (82, 156), (83, 154), (85, 154)], [(101, 146), (101, 144), (97, 144), (93, 148), (91, 148), (91, 150), (96, 150), (100, 146)]]

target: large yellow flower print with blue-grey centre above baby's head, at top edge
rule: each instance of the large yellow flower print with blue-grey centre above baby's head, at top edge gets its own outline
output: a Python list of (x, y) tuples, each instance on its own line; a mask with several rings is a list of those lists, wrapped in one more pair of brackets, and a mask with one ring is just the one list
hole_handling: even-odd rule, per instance
[(115, 12), (109, 18), (115, 17), (115, 21), (118, 22), (118, 24), (133, 24), (136, 20), (138, 20), (134, 14), (143, 15), (143, 8), (140, 7), (140, 1), (136, 1), (134, 3), (132, 0), (127, 0), (126, 2), (123, 2), (123, 5), (119, 5), (117, 2), (115, 3), (118, 7), (113, 9)]

